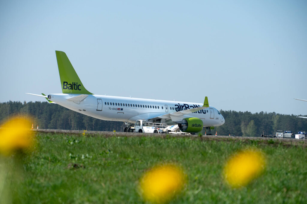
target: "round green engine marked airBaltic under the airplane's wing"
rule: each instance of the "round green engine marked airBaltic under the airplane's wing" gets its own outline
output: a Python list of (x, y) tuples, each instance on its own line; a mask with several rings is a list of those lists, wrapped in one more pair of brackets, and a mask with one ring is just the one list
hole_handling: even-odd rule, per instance
[(178, 127), (182, 132), (195, 133), (200, 132), (203, 129), (203, 121), (197, 117), (185, 118), (178, 123)]

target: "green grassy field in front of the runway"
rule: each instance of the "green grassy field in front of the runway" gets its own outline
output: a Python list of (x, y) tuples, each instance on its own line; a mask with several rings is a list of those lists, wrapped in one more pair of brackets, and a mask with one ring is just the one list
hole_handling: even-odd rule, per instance
[[(276, 141), (37, 133), (35, 150), (15, 158), (12, 199), (142, 203), (139, 178), (158, 163), (172, 162), (185, 170), (188, 182), (171, 203), (307, 203), (306, 143)], [(237, 150), (249, 147), (266, 155), (266, 170), (246, 187), (231, 189), (223, 166)]]

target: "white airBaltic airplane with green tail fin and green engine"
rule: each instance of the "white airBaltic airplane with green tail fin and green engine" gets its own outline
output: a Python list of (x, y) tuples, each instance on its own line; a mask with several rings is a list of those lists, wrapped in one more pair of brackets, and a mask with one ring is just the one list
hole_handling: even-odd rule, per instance
[[(87, 116), (106, 121), (122, 121), (130, 131), (130, 125), (137, 120), (176, 124), (183, 132), (200, 132), (203, 127), (215, 127), (225, 123), (216, 108), (209, 106), (208, 97), (204, 103), (165, 101), (144, 98), (95, 95), (83, 86), (79, 76), (62, 51), (56, 51), (61, 94), (36, 95)], [(29, 93), (27, 93), (29, 94)]]

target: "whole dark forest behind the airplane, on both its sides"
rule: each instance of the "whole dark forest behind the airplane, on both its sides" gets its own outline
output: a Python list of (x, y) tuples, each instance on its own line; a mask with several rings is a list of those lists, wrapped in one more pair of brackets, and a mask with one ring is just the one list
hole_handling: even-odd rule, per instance
[[(218, 135), (259, 137), (262, 134), (275, 134), (276, 130), (292, 131), (294, 134), (298, 131), (307, 131), (307, 119), (297, 118), (296, 115), (233, 110), (220, 112), (225, 118), (225, 124), (212, 130)], [(32, 116), (34, 128), (38, 125), (40, 129), (122, 132), (125, 127), (124, 122), (99, 120), (49, 102), (0, 103), (1, 124), (17, 114)]]

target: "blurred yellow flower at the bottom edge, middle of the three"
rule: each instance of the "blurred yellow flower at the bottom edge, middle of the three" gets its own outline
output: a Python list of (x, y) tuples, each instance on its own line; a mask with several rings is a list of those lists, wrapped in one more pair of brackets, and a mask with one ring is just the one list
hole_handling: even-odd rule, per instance
[(145, 201), (164, 203), (177, 195), (186, 183), (186, 175), (173, 164), (158, 165), (140, 179), (140, 192)]

